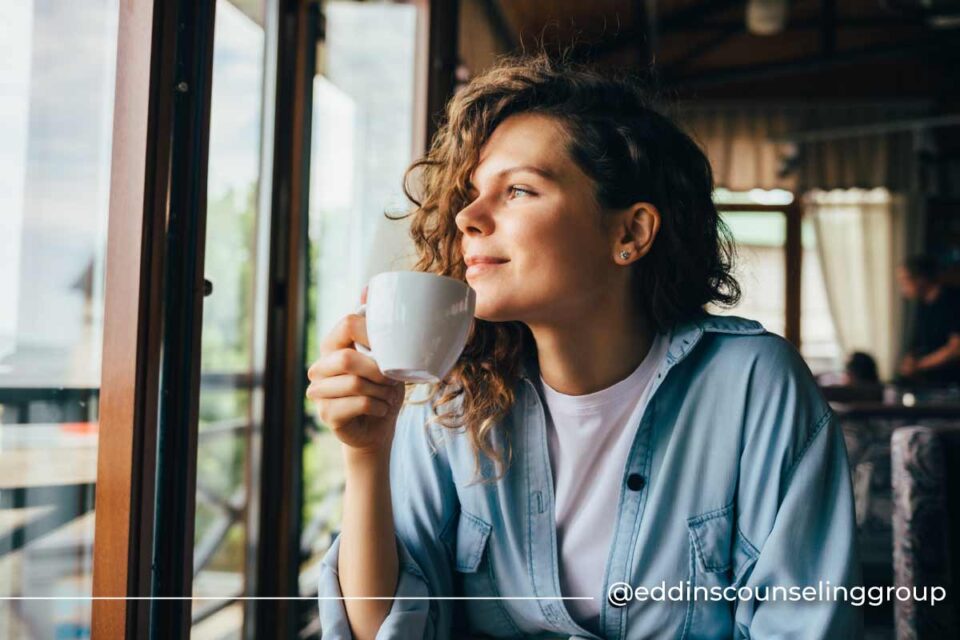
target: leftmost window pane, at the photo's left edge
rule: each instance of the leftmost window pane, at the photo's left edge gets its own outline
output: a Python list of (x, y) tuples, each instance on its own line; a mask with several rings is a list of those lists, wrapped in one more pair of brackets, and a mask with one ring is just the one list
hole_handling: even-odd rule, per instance
[[(92, 593), (117, 0), (0, 3), (0, 596)], [(85, 638), (89, 600), (0, 601)]]

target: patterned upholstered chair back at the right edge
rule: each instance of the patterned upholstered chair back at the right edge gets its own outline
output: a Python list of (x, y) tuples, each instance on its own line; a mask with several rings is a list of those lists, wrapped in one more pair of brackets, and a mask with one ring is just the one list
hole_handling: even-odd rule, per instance
[(894, 600), (898, 640), (960, 637), (960, 426), (911, 426), (891, 439), (897, 586), (942, 586), (946, 600)]

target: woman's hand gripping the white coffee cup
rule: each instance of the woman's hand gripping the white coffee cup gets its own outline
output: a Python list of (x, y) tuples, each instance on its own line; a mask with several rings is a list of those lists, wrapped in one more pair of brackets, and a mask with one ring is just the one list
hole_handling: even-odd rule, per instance
[(382, 457), (390, 452), (404, 385), (380, 373), (354, 343), (369, 345), (367, 323), (350, 314), (320, 345), (320, 359), (307, 372), (307, 397), (316, 403), (320, 420), (349, 447), (345, 453)]

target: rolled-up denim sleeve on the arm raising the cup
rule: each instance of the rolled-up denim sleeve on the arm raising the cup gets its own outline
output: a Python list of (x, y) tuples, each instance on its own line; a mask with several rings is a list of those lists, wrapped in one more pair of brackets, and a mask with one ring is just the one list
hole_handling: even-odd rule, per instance
[[(443, 445), (442, 427), (427, 420), (428, 405), (403, 408), (390, 452), (390, 490), (396, 530), (399, 580), (377, 640), (444, 640), (452, 628), (452, 601), (427, 596), (453, 594), (449, 538), (457, 494)], [(429, 432), (428, 432), (429, 429)], [(325, 639), (352, 638), (338, 575), (340, 537), (321, 563), (319, 606)]]

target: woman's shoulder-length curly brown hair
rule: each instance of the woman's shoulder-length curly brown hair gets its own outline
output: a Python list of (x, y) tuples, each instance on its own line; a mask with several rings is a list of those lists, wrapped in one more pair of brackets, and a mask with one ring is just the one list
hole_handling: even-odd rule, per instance
[[(648, 202), (660, 211), (657, 239), (632, 274), (639, 311), (655, 330), (670, 329), (707, 303), (735, 304), (733, 243), (712, 200), (710, 163), (655, 100), (629, 75), (544, 53), (502, 58), (450, 100), (430, 150), (404, 176), (415, 205), (408, 214), (415, 269), (465, 280), (455, 217), (471, 201), (469, 178), (481, 148), (507, 117), (537, 113), (563, 126), (566, 151), (594, 181), (601, 208)], [(503, 434), (504, 456), (493, 430), (513, 405), (521, 363), (535, 349), (526, 325), (475, 319), (463, 354), (431, 394), (437, 423), (466, 427), (478, 475), (481, 454), (496, 462), (494, 480), (510, 465), (510, 434)]]

